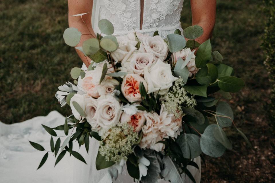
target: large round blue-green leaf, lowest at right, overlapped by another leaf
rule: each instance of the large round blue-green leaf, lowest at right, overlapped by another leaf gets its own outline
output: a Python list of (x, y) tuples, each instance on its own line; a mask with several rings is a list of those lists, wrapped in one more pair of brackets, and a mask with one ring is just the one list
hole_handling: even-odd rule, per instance
[(217, 158), (224, 154), (225, 147), (214, 137), (213, 130), (217, 125), (209, 125), (201, 135), (201, 150), (204, 154)]

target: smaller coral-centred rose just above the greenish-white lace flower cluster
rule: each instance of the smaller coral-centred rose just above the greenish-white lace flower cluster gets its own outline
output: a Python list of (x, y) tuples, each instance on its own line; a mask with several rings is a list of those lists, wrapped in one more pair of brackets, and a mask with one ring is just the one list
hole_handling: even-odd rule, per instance
[(120, 123), (128, 123), (129, 125), (133, 126), (135, 132), (139, 132), (145, 123), (143, 111), (138, 111), (134, 115), (129, 115), (123, 112), (120, 118)]

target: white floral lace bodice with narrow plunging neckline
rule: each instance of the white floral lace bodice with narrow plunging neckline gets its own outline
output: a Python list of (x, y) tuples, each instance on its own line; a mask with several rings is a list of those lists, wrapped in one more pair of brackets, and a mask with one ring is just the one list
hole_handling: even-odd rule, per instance
[[(125, 35), (134, 29), (149, 35), (158, 30), (162, 36), (166, 36), (176, 29), (182, 30), (179, 20), (183, 1), (144, 0), (142, 13), (140, 0), (97, 0), (93, 9), (93, 24), (96, 25), (100, 19), (108, 19), (114, 25), (114, 35)], [(93, 27), (97, 32), (97, 27)]]

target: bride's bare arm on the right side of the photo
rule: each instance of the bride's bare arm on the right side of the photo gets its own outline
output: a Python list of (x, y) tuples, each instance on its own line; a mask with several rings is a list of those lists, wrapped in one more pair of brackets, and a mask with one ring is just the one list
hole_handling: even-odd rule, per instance
[(192, 10), (192, 25), (200, 25), (203, 35), (196, 39), (203, 43), (211, 38), (216, 21), (216, 0), (190, 0)]

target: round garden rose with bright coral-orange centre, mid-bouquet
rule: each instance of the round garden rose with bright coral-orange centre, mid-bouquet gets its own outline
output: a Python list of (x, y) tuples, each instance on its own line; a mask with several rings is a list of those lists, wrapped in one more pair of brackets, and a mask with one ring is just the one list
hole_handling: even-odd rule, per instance
[(143, 83), (146, 91), (148, 89), (148, 85), (146, 81), (137, 74), (127, 74), (124, 76), (123, 81), (121, 83), (121, 92), (123, 96), (129, 101), (129, 102), (136, 102), (141, 100), (140, 95), (140, 82)]

